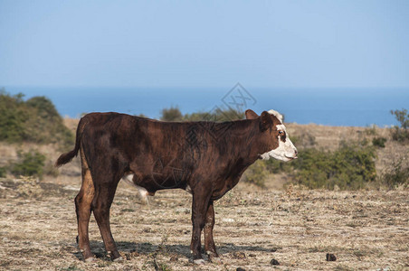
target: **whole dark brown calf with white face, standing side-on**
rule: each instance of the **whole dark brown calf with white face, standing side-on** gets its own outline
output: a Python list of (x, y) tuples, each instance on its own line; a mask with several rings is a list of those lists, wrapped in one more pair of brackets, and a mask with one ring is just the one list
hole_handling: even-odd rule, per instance
[(161, 122), (119, 113), (82, 117), (74, 149), (62, 154), (56, 165), (70, 162), (80, 151), (82, 184), (75, 207), (84, 259), (93, 259), (88, 236), (91, 211), (110, 257), (120, 258), (109, 228), (109, 208), (119, 181), (126, 177), (150, 195), (176, 188), (190, 192), (193, 259), (204, 263), (200, 249), (204, 230), (205, 251), (216, 260), (214, 201), (230, 191), (257, 159), (297, 158), (278, 112), (258, 116), (249, 109), (245, 115), (246, 119), (224, 123)]

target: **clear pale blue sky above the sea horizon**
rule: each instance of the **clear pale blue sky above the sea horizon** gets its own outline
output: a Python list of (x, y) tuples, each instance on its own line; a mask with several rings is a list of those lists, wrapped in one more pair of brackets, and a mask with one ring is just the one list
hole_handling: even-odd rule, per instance
[(0, 87), (408, 88), (409, 1), (0, 0)]

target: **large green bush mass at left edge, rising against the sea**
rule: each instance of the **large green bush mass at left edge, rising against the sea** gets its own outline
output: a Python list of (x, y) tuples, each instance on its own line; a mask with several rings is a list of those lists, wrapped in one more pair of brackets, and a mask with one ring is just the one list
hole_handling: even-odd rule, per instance
[(23, 98), (21, 93), (11, 96), (0, 91), (1, 141), (73, 144), (74, 136), (48, 98)]

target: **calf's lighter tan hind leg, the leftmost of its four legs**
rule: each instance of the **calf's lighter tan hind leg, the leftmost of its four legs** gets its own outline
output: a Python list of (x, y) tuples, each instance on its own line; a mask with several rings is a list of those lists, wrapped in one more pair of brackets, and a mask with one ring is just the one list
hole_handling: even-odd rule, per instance
[(88, 236), (88, 225), (90, 223), (91, 202), (94, 198), (94, 184), (90, 176), (90, 168), (81, 148), (81, 190), (75, 197), (75, 211), (77, 213), (78, 224), (78, 247), (81, 250), (85, 261), (90, 261), (94, 257), (90, 252), (90, 238)]

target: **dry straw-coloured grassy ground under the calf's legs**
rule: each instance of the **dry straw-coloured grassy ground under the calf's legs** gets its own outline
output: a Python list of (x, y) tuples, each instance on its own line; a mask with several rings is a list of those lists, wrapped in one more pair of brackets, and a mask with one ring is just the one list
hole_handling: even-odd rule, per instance
[[(73, 199), (80, 176), (0, 179), (0, 269), (408, 270), (409, 192), (262, 191), (239, 183), (215, 204), (222, 263), (190, 260), (190, 194), (157, 192), (141, 204), (119, 183), (111, 228), (123, 262), (106, 256), (90, 220), (94, 263), (76, 248)], [(327, 254), (336, 261), (327, 261)], [(275, 259), (280, 265), (272, 266)], [(242, 270), (243, 270), (242, 269)]]

